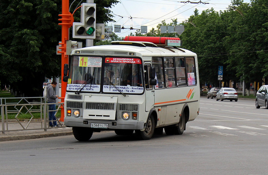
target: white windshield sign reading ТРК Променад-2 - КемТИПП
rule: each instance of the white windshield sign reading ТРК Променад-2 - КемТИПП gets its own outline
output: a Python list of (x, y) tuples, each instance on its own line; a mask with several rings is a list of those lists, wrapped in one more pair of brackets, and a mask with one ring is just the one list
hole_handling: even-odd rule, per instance
[[(136, 86), (116, 86), (123, 93), (129, 94), (142, 94), (143, 87), (136, 87)], [(103, 85), (103, 92), (118, 92), (115, 87), (109, 85)]]

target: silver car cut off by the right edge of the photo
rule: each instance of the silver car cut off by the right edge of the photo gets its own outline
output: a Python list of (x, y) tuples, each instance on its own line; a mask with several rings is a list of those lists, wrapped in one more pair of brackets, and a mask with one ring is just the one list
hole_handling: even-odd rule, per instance
[(267, 93), (268, 85), (263, 85), (259, 88), (256, 95), (256, 108), (260, 108), (260, 106), (265, 106), (268, 109), (268, 93)]

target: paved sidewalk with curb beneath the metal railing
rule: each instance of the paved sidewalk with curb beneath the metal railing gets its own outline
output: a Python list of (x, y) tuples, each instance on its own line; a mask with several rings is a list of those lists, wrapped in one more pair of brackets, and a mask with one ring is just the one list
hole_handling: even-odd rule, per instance
[[(27, 122), (22, 122), (23, 126), (27, 125)], [(1, 141), (11, 141), (11, 140), (25, 140), (25, 139), (35, 139), (35, 138), (44, 138), (44, 137), (58, 137), (63, 135), (72, 135), (73, 131), (70, 127), (53, 127), (44, 131), (44, 129), (35, 130), (35, 128), (40, 128), (39, 122), (31, 122), (28, 128), (31, 130), (23, 130), (23, 131), (5, 131), (5, 134), (0, 132), (0, 142)], [(2, 122), (0, 122), (0, 127), (2, 130)], [(6, 125), (5, 125), (6, 129)], [(9, 122), (8, 124), (9, 130), (19, 130), (23, 129), (18, 122)]]

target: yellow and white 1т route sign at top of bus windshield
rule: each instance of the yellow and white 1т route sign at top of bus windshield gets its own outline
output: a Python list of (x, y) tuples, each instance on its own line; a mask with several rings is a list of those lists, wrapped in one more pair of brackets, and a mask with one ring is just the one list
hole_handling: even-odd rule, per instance
[(101, 67), (102, 58), (95, 56), (80, 56), (79, 67)]

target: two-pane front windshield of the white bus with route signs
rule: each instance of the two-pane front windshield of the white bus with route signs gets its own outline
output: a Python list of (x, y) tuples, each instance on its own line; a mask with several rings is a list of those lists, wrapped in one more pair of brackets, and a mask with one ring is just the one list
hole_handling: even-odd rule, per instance
[[(105, 61), (104, 68), (102, 60)], [(143, 85), (139, 58), (73, 56), (66, 90), (142, 94)]]

